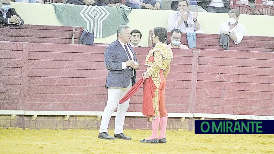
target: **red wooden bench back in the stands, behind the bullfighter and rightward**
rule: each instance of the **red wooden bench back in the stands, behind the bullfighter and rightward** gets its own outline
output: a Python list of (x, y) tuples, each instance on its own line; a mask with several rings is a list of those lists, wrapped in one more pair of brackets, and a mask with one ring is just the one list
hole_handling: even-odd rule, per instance
[[(167, 43), (170, 44), (170, 32), (167, 33)], [(188, 46), (186, 33), (182, 33), (181, 43)], [(149, 31), (148, 47), (153, 47), (152, 30)], [(197, 34), (196, 48), (198, 49), (218, 49), (224, 50), (220, 47), (219, 34)], [(274, 37), (261, 36), (244, 36), (239, 44), (235, 44), (233, 40), (229, 41), (229, 50), (236, 51), (274, 51)]]

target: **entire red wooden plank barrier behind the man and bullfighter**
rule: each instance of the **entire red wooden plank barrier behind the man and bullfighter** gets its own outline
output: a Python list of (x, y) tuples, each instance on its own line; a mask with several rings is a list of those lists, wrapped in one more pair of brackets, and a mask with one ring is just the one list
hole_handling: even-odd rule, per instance
[[(106, 46), (0, 42), (0, 47), (0, 110), (104, 110)], [(141, 64), (137, 80), (150, 49), (134, 48)], [(168, 112), (274, 115), (274, 53), (173, 52), (165, 95)], [(128, 111), (142, 111), (142, 89)]]

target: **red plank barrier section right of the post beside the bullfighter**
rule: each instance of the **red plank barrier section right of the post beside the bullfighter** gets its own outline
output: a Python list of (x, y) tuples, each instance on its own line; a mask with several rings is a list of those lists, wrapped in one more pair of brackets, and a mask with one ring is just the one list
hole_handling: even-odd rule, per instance
[(274, 115), (273, 62), (270, 52), (200, 50), (195, 112)]

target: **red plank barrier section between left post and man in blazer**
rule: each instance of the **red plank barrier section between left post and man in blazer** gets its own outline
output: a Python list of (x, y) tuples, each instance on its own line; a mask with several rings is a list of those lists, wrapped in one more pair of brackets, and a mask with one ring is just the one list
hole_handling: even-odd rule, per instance
[(105, 46), (29, 44), (27, 110), (103, 111), (104, 50)]

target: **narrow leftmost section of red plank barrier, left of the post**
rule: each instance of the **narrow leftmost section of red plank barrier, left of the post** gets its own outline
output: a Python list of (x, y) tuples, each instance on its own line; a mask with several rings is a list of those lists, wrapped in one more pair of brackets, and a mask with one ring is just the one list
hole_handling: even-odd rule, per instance
[(21, 110), (22, 43), (0, 43), (0, 110)]

